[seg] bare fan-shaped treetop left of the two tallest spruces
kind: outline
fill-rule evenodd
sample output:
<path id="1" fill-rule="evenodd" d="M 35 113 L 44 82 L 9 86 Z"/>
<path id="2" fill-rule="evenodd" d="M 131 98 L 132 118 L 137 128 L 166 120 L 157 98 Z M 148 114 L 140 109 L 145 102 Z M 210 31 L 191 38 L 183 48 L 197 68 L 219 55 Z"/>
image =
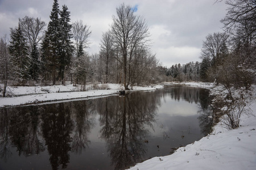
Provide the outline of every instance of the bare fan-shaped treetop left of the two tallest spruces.
<path id="1" fill-rule="evenodd" d="M 30 43 L 30 49 L 32 49 L 34 45 L 38 45 L 39 41 L 42 40 L 46 22 L 41 21 L 40 18 L 25 16 L 23 19 L 19 19 L 19 23 Z"/>

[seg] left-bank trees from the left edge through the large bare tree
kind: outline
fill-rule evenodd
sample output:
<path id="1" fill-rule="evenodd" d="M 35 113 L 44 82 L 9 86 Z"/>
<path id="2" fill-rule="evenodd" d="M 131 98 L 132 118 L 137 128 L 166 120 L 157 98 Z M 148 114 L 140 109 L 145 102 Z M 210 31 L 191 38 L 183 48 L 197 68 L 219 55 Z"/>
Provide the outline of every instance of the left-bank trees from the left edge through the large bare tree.
<path id="1" fill-rule="evenodd" d="M 133 84 L 156 82 L 159 63 L 150 51 L 146 20 L 124 3 L 116 8 L 109 31 L 102 34 L 100 52 L 89 55 L 92 31 L 82 21 L 70 23 L 71 12 L 53 1 L 50 21 L 25 16 L 1 39 L 1 80 L 15 85 L 65 84 L 86 90 L 86 82 Z M 45 29 L 46 28 L 46 29 Z M 2 48 L 3 46 L 3 48 Z M 4 96 L 4 95 L 3 95 Z"/>

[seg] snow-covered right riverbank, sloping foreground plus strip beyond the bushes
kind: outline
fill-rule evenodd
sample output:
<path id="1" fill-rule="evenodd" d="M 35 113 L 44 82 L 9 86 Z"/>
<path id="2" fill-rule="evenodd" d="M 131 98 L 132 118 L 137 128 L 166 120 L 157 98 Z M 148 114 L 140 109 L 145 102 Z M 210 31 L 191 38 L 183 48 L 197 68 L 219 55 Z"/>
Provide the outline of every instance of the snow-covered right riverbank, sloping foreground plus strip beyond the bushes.
<path id="1" fill-rule="evenodd" d="M 223 88 L 213 83 L 173 83 L 209 88 L 217 94 Z M 242 114 L 240 128 L 227 130 L 221 122 L 207 137 L 178 148 L 174 154 L 155 157 L 130 169 L 256 169 L 256 88 Z"/>

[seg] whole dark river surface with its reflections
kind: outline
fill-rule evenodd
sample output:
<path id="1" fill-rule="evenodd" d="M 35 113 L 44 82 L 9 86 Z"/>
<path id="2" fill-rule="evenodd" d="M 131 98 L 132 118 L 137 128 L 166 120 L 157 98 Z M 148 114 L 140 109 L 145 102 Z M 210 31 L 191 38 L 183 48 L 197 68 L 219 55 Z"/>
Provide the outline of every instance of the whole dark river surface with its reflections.
<path id="1" fill-rule="evenodd" d="M 209 92 L 167 86 L 126 96 L 0 109 L 0 169 L 124 169 L 209 133 Z"/>

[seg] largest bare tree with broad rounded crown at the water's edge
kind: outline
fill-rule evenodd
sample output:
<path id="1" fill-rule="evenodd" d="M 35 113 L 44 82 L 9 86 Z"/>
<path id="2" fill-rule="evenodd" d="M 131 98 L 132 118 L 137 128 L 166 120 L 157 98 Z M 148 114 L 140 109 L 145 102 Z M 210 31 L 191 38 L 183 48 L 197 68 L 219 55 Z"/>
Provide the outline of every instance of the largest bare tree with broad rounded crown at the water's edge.
<path id="1" fill-rule="evenodd" d="M 129 90 L 129 78 L 127 78 L 129 61 L 134 57 L 135 48 L 139 45 L 146 45 L 147 37 L 150 35 L 146 20 L 141 16 L 136 16 L 131 6 L 126 6 L 122 3 L 122 5 L 116 8 L 116 11 L 117 16 L 113 16 L 111 33 L 114 45 L 122 56 L 122 60 L 119 62 L 121 62 L 123 67 L 123 85 L 125 89 Z"/>

